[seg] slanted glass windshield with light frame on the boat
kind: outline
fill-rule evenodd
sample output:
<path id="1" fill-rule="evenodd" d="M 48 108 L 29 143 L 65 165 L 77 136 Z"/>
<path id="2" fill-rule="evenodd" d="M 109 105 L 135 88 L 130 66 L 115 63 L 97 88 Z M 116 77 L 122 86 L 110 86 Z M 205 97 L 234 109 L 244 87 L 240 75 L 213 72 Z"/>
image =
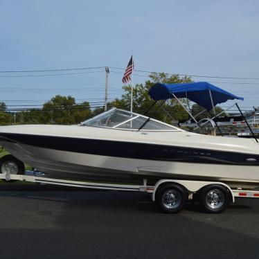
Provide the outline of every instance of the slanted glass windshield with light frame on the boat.
<path id="1" fill-rule="evenodd" d="M 177 127 L 162 123 L 140 114 L 134 114 L 122 109 L 110 109 L 98 116 L 90 118 L 80 124 L 81 126 L 91 127 L 110 127 L 121 130 L 152 130 L 152 131 L 175 131 Z"/>

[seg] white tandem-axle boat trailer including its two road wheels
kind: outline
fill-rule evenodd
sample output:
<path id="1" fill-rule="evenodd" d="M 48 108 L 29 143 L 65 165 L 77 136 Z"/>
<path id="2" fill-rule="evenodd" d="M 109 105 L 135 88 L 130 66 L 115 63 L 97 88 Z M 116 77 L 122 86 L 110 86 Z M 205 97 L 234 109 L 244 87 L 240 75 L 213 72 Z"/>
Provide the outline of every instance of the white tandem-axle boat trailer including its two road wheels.
<path id="1" fill-rule="evenodd" d="M 154 185 L 148 185 L 147 179 L 143 179 L 141 185 L 108 184 L 105 182 L 53 179 L 37 170 L 26 170 L 24 175 L 5 172 L 0 174 L 0 179 L 74 188 L 150 193 L 152 202 L 155 202 L 160 211 L 164 213 L 178 213 L 188 201 L 199 202 L 207 213 L 221 213 L 229 205 L 229 202 L 235 202 L 235 197 L 259 198 L 259 190 L 233 189 L 219 181 L 161 179 Z"/>

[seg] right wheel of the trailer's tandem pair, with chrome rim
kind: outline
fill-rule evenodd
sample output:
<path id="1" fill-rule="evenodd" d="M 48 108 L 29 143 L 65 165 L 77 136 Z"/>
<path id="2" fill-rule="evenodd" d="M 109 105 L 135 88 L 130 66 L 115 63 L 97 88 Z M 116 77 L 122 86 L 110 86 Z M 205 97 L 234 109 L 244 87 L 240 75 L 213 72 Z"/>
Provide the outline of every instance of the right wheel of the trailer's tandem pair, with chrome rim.
<path id="1" fill-rule="evenodd" d="M 220 184 L 205 186 L 199 192 L 199 204 L 207 213 L 221 213 L 229 205 L 229 190 Z"/>

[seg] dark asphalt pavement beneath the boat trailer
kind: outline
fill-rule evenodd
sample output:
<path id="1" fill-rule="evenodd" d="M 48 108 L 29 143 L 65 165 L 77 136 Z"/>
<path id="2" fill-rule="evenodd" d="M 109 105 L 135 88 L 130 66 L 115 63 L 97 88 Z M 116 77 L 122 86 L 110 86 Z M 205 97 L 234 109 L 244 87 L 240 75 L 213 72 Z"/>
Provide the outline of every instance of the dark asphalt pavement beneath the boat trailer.
<path id="1" fill-rule="evenodd" d="M 1 190 L 0 258 L 259 258 L 259 199 L 160 213 L 145 193 Z"/>

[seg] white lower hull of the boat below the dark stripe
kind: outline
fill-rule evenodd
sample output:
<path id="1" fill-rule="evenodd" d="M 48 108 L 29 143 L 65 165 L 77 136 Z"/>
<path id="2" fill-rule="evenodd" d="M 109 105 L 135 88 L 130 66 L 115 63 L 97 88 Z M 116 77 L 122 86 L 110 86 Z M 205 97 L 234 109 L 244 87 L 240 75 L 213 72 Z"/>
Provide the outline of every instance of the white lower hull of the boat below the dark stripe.
<path id="1" fill-rule="evenodd" d="M 39 171 L 60 177 L 69 175 L 82 178 L 96 175 L 108 179 L 127 179 L 130 176 L 145 176 L 259 183 L 258 166 L 128 159 L 37 148 L 18 143 L 2 144 L 17 159 Z"/>

